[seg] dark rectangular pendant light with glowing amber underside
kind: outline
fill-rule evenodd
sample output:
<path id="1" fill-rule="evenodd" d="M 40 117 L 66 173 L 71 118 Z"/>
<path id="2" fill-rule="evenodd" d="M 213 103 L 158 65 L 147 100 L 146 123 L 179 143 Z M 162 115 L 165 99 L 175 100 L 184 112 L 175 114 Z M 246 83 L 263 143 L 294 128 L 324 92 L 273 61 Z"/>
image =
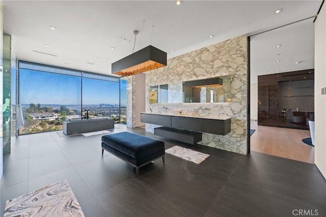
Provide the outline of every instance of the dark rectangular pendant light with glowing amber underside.
<path id="1" fill-rule="evenodd" d="M 130 76 L 167 66 L 167 53 L 151 45 L 112 64 L 112 74 Z"/>

